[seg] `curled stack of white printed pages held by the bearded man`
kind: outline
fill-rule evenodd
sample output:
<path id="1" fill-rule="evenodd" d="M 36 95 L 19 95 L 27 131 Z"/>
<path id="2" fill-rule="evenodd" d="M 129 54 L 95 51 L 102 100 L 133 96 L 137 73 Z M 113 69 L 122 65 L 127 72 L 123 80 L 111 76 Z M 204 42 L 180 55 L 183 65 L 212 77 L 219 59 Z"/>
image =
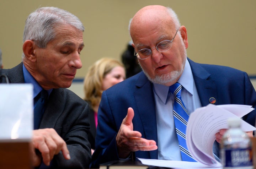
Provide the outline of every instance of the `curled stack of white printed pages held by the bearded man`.
<path id="1" fill-rule="evenodd" d="M 192 156 L 206 165 L 216 166 L 220 163 L 213 156 L 215 133 L 220 129 L 228 129 L 227 119 L 238 116 L 241 118 L 254 110 L 248 105 L 213 105 L 198 108 L 190 114 L 187 125 L 187 146 Z M 243 131 L 253 131 L 256 128 L 247 122 L 241 122 Z"/>

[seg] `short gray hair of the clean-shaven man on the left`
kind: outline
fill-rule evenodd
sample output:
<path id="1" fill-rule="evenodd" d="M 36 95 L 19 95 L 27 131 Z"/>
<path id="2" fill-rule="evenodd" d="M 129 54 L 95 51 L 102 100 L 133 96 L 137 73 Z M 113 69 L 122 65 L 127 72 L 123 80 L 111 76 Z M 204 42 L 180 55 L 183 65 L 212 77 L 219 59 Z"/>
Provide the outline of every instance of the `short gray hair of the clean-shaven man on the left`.
<path id="1" fill-rule="evenodd" d="M 27 17 L 23 43 L 33 40 L 40 48 L 46 48 L 48 42 L 56 36 L 55 28 L 62 25 L 71 25 L 84 32 L 84 26 L 78 17 L 57 7 L 41 7 Z M 22 58 L 24 58 L 24 53 Z"/>

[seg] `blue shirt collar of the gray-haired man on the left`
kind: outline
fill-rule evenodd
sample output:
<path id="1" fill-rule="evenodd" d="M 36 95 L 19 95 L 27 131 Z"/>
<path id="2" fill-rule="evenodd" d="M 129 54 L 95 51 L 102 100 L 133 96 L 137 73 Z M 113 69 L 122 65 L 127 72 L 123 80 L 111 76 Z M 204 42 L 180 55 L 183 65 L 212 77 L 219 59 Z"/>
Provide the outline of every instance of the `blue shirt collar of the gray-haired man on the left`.
<path id="1" fill-rule="evenodd" d="M 25 83 L 32 83 L 34 86 L 33 89 L 33 98 L 37 96 L 38 93 L 40 93 L 42 91 L 42 87 L 40 86 L 40 84 L 34 79 L 34 77 L 30 74 L 30 72 L 28 72 L 28 70 L 26 69 L 26 67 L 24 66 L 24 64 L 22 64 L 22 69 L 23 69 L 23 75 L 24 75 L 24 81 Z M 50 95 L 50 93 L 52 92 L 52 89 L 47 90 L 48 92 L 48 96 Z"/>

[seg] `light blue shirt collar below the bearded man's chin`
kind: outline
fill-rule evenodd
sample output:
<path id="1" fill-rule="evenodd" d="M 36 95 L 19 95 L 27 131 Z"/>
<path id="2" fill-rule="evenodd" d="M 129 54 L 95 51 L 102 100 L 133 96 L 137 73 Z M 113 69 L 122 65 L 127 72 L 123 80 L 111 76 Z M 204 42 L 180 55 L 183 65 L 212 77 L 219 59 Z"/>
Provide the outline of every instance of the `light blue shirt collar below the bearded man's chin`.
<path id="1" fill-rule="evenodd" d="M 187 59 L 186 59 L 186 63 L 184 66 L 183 73 L 182 73 L 181 77 L 179 78 L 178 83 L 180 83 L 182 85 L 182 87 L 185 88 L 189 93 L 191 93 L 192 95 L 194 94 L 194 92 L 193 92 L 193 74 L 192 74 L 191 67 L 190 67 L 190 64 Z M 153 83 L 153 88 L 154 88 L 155 93 L 162 100 L 162 102 L 166 103 L 169 86 L 164 86 L 162 84 Z"/>

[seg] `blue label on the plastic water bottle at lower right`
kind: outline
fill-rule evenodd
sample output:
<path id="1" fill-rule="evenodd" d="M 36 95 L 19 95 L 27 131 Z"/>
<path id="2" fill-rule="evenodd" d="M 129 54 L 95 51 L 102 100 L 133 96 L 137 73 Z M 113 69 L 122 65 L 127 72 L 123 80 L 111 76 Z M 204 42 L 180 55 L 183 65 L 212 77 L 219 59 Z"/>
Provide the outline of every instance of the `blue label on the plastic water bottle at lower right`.
<path id="1" fill-rule="evenodd" d="M 246 167 L 252 164 L 252 149 L 224 149 L 223 167 Z"/>

